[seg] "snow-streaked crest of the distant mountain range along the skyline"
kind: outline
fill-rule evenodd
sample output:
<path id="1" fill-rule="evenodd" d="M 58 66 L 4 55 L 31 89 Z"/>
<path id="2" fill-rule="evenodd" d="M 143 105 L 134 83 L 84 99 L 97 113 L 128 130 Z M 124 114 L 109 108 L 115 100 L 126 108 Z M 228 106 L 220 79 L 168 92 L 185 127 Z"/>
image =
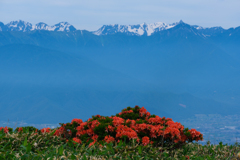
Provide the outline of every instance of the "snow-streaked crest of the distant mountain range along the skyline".
<path id="1" fill-rule="evenodd" d="M 188 25 L 184 23 L 182 20 L 176 23 L 167 24 L 163 22 L 156 22 L 156 23 L 142 23 L 137 25 L 119 25 L 119 24 L 111 24 L 111 25 L 103 25 L 96 31 L 92 31 L 91 33 L 94 35 L 113 35 L 117 33 L 123 33 L 130 36 L 151 36 L 154 33 L 161 32 L 164 30 L 169 30 L 179 25 Z M 214 34 L 222 33 L 226 30 L 235 30 L 235 28 L 230 29 L 223 29 L 222 27 L 210 27 L 204 28 L 198 25 L 189 25 L 191 29 L 196 30 L 196 34 L 199 34 L 203 37 L 211 36 Z M 8 24 L 3 24 L 0 22 L 0 31 L 20 31 L 20 32 L 29 32 L 35 30 L 46 30 L 46 31 L 63 31 L 63 32 L 71 32 L 76 31 L 73 25 L 69 24 L 68 22 L 60 22 L 53 26 L 49 26 L 46 23 L 40 22 L 36 25 L 32 25 L 29 22 L 25 22 L 22 20 L 18 21 L 11 21 Z"/>

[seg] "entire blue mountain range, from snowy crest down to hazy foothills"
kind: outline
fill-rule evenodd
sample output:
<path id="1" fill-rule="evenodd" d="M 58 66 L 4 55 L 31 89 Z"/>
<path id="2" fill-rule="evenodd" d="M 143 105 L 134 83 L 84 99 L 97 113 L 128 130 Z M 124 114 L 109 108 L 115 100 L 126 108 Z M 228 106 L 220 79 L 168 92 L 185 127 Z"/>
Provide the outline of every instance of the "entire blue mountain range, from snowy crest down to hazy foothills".
<path id="1" fill-rule="evenodd" d="M 240 27 L 17 22 L 0 23 L 0 121 L 86 120 L 134 105 L 179 121 L 240 113 Z"/>

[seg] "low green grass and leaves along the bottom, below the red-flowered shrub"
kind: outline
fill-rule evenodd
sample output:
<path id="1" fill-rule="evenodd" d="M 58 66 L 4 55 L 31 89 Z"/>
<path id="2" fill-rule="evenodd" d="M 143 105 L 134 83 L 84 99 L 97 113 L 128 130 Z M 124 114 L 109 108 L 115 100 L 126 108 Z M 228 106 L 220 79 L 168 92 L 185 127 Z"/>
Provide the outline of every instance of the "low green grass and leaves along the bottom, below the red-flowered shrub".
<path id="1" fill-rule="evenodd" d="M 31 127 L 27 127 L 28 130 Z M 33 129 L 33 128 L 32 128 Z M 55 129 L 54 129 L 55 130 Z M 54 131 L 53 130 L 53 131 Z M 189 143 L 179 149 L 168 151 L 166 148 L 154 147 L 152 145 L 141 146 L 136 141 L 125 143 L 101 143 L 88 147 L 86 143 L 76 144 L 72 140 L 66 143 L 61 137 L 53 136 L 52 133 L 34 135 L 34 132 L 10 134 L 0 133 L 0 159 L 209 159 L 225 160 L 236 159 L 240 151 L 239 145 L 228 146 L 219 143 L 219 145 L 206 146 L 197 143 Z M 12 136 L 11 136 L 12 135 Z M 82 135 L 87 138 L 87 135 Z M 13 138 L 14 137 L 14 138 Z M 124 137 L 123 137 L 124 139 Z M 90 140 L 91 141 L 91 140 Z"/>

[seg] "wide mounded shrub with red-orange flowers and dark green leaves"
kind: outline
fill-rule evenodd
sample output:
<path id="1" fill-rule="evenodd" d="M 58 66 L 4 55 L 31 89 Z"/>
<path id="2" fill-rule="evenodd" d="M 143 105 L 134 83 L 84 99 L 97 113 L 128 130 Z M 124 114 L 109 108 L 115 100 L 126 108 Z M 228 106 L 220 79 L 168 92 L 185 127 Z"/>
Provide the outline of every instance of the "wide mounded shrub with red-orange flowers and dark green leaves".
<path id="1" fill-rule="evenodd" d="M 149 143 L 155 146 L 180 146 L 187 142 L 199 141 L 203 135 L 195 129 L 184 129 L 171 118 L 160 118 L 151 115 L 139 106 L 128 107 L 111 117 L 93 116 L 86 122 L 73 119 L 71 123 L 61 124 L 54 133 L 77 143 L 87 143 L 89 146 L 101 142 L 131 142 L 135 140 L 142 145 Z"/>

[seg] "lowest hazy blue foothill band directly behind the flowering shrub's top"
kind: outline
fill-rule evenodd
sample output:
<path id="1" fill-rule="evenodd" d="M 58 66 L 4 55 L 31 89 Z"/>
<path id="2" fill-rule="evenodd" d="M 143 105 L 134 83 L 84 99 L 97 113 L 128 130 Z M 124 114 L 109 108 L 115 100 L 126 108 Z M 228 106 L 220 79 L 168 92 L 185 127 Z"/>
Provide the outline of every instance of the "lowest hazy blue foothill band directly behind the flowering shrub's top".
<path id="1" fill-rule="evenodd" d="M 161 117 L 181 121 L 195 114 L 237 114 L 236 106 L 200 99 L 190 94 L 161 91 L 106 91 L 87 87 L 42 85 L 1 86 L 1 121 L 28 123 L 87 120 L 92 115 L 115 115 L 127 106 L 145 106 Z"/>

